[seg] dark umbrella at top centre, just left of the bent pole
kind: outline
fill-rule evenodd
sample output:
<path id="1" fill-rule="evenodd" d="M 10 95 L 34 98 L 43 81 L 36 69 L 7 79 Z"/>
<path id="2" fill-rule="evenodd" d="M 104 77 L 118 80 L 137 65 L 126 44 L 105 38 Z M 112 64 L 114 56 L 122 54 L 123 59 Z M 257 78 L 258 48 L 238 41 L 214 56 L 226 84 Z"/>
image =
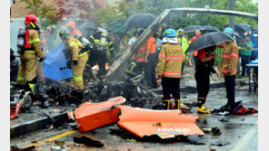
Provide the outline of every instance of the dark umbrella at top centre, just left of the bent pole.
<path id="1" fill-rule="evenodd" d="M 148 13 L 138 13 L 132 14 L 125 20 L 125 25 L 127 27 L 136 27 L 136 28 L 146 28 L 152 24 L 156 16 L 154 14 Z"/>

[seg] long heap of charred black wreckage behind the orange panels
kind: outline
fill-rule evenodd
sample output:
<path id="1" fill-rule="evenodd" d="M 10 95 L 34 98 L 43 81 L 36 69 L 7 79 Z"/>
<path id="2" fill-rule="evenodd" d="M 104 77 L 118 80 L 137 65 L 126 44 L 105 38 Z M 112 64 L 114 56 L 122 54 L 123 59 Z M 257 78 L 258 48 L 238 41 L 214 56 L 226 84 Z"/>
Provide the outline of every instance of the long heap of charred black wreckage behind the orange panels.
<path id="1" fill-rule="evenodd" d="M 136 83 L 135 83 L 136 82 Z M 144 88 L 143 84 L 137 83 L 137 80 L 126 81 L 89 81 L 85 90 L 77 91 L 75 87 L 68 85 L 68 80 L 52 80 L 45 78 L 45 84 L 35 83 L 35 92 L 25 86 L 20 86 L 11 82 L 11 100 L 15 95 L 19 98 L 25 98 L 25 93 L 31 92 L 31 102 L 27 105 L 40 106 L 42 109 L 56 106 L 74 106 L 78 107 L 83 102 L 103 102 L 107 99 L 117 96 L 123 96 L 126 99 L 125 104 L 131 107 L 152 109 L 154 103 L 158 103 L 159 96 Z M 25 110 L 25 109 L 24 109 Z"/>

